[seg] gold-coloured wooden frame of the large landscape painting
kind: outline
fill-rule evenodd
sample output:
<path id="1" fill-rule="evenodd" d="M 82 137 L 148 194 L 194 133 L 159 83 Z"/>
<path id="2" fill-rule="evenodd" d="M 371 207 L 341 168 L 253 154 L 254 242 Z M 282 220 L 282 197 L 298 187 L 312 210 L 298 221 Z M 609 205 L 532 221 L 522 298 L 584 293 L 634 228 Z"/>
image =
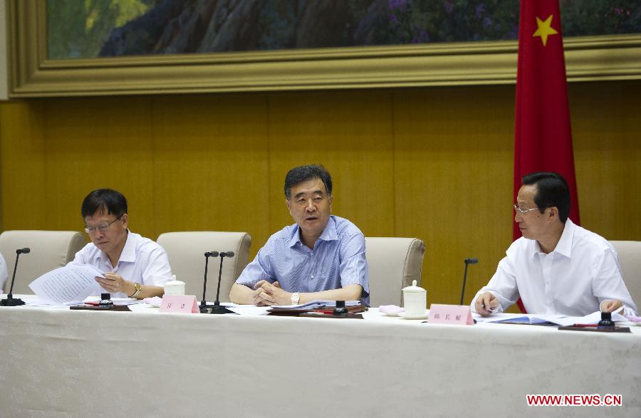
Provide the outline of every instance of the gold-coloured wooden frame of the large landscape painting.
<path id="1" fill-rule="evenodd" d="M 8 0 L 9 97 L 516 82 L 516 41 L 49 60 L 46 1 Z M 566 38 L 568 80 L 641 78 L 641 34 Z"/>

